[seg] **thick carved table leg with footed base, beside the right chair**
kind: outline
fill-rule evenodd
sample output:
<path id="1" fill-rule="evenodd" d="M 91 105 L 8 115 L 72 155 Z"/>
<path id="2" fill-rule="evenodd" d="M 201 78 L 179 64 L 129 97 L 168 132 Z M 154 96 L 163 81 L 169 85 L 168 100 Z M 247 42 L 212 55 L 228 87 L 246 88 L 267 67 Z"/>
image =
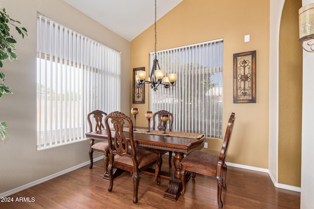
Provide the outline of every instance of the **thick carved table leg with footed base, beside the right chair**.
<path id="1" fill-rule="evenodd" d="M 181 161 L 183 159 L 182 152 L 175 152 L 175 157 L 173 158 L 173 163 L 176 167 L 175 176 L 172 178 L 168 184 L 168 188 L 165 191 L 163 197 L 177 201 L 178 197 L 180 196 L 180 191 L 182 189 L 181 183 L 181 170 L 182 165 Z"/>

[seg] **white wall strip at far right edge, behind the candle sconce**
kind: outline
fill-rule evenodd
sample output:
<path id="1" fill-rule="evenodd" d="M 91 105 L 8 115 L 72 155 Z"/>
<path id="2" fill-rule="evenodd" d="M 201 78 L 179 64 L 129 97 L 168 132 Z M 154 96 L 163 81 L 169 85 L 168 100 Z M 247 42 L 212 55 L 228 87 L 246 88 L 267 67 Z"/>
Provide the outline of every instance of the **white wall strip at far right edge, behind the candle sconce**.
<path id="1" fill-rule="evenodd" d="M 314 0 L 302 0 L 302 5 Z M 314 52 L 303 51 L 301 209 L 314 206 Z"/>

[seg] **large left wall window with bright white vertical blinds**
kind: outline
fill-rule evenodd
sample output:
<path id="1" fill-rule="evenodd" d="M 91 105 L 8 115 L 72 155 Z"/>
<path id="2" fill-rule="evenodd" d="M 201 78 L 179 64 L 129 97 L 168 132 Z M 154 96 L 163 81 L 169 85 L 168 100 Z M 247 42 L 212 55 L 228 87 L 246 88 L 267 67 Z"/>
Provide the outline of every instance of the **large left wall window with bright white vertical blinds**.
<path id="1" fill-rule="evenodd" d="M 121 53 L 37 18 L 37 148 L 85 138 L 86 116 L 120 109 Z"/>

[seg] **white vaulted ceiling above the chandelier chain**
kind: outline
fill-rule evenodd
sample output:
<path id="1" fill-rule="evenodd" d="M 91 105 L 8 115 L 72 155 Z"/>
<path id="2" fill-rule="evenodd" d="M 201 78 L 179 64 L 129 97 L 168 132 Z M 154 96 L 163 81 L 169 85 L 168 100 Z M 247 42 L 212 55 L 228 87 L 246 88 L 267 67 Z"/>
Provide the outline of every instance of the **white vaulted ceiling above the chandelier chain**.
<path id="1" fill-rule="evenodd" d="M 154 0 L 63 0 L 128 41 L 154 24 Z M 157 20 L 183 0 L 157 0 Z"/>

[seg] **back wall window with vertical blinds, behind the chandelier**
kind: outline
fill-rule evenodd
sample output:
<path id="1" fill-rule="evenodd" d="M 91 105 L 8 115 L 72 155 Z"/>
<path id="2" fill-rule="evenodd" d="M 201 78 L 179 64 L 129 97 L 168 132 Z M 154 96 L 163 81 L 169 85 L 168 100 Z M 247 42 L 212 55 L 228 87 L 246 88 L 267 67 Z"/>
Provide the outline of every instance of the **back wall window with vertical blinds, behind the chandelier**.
<path id="1" fill-rule="evenodd" d="M 177 73 L 177 85 L 151 91 L 150 109 L 173 113 L 173 129 L 222 138 L 223 40 L 157 51 L 157 58 L 165 73 Z"/>

